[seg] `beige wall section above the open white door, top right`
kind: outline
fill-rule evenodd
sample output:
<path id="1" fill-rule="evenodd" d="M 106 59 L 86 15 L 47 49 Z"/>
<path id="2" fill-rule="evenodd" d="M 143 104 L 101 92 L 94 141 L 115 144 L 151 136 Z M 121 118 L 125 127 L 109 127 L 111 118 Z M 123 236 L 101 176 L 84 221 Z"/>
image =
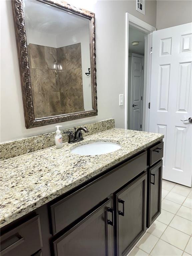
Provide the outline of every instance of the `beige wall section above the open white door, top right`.
<path id="1" fill-rule="evenodd" d="M 192 22 L 191 0 L 157 0 L 157 29 Z"/>

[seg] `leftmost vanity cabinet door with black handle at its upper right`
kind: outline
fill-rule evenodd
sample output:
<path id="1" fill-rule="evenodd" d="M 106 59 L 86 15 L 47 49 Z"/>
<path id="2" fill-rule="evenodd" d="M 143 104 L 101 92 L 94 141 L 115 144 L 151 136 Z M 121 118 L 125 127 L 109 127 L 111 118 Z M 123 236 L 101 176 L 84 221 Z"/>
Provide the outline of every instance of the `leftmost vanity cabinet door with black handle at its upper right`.
<path id="1" fill-rule="evenodd" d="M 111 256 L 114 211 L 108 200 L 54 244 L 56 256 Z"/>

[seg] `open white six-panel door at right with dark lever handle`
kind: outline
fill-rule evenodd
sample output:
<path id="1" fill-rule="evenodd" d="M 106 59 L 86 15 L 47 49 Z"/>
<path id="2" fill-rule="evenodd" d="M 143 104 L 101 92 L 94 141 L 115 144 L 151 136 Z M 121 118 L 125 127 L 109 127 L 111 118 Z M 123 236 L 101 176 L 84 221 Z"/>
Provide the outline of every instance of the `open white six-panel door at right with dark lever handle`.
<path id="1" fill-rule="evenodd" d="M 153 32 L 150 132 L 163 133 L 163 179 L 191 186 L 192 23 Z"/>

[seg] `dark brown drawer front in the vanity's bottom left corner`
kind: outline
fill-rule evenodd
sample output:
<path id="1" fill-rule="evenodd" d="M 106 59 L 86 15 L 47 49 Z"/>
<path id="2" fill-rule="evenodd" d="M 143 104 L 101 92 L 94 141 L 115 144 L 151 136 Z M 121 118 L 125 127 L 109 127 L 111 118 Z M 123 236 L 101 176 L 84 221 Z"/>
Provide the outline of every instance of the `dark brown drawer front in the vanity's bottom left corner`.
<path id="1" fill-rule="evenodd" d="M 41 247 L 39 215 L 1 236 L 1 256 L 31 256 Z"/>

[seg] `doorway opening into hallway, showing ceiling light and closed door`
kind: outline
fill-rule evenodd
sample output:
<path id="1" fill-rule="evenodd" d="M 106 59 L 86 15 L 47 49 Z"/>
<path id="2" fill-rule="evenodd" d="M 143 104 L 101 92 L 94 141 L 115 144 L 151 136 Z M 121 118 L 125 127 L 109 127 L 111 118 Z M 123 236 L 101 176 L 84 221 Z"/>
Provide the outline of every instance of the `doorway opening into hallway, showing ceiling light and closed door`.
<path id="1" fill-rule="evenodd" d="M 128 123 L 127 128 L 142 131 L 145 33 L 129 25 Z"/>

